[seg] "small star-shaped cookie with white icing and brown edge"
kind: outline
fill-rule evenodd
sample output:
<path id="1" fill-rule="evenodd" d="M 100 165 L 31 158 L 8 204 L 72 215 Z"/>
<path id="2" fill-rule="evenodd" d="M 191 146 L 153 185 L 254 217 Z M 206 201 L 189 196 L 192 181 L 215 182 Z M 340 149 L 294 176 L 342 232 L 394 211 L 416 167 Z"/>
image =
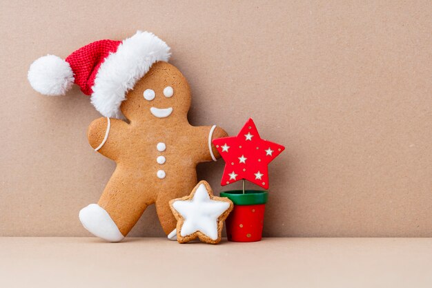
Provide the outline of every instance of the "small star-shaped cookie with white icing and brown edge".
<path id="1" fill-rule="evenodd" d="M 186 243 L 199 238 L 217 244 L 222 238 L 224 220 L 233 210 L 228 198 L 213 195 L 210 185 L 201 181 L 190 195 L 170 200 L 170 208 L 177 219 L 177 241 Z"/>

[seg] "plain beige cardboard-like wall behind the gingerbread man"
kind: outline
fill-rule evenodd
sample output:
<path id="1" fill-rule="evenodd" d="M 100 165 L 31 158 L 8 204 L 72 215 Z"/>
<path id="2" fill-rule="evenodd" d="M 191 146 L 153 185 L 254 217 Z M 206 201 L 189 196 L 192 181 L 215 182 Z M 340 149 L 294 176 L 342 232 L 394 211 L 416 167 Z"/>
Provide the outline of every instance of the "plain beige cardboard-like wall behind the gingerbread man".
<path id="1" fill-rule="evenodd" d="M 114 169 L 86 140 L 99 115 L 76 87 L 38 95 L 26 73 L 137 29 L 171 46 L 190 122 L 234 135 L 253 117 L 286 146 L 266 236 L 432 236 L 430 1 L 1 2 L 0 236 L 89 235 L 78 211 Z M 219 192 L 223 167 L 199 178 Z M 131 235 L 162 235 L 153 208 Z"/>

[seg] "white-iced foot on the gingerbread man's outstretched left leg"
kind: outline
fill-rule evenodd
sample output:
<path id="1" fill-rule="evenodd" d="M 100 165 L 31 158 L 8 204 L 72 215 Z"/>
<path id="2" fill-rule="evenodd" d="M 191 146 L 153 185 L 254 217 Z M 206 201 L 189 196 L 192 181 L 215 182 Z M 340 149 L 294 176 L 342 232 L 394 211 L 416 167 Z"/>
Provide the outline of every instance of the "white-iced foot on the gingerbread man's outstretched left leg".
<path id="1" fill-rule="evenodd" d="M 90 233 L 109 242 L 124 239 L 110 215 L 98 204 L 90 204 L 79 211 L 79 220 Z"/>

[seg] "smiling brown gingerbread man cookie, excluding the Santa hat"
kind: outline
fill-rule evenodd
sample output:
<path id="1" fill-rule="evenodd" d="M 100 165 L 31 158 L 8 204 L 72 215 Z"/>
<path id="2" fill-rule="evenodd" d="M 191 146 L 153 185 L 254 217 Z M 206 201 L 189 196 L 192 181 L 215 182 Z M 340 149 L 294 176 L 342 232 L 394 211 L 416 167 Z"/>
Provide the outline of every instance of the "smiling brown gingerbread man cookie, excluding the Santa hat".
<path id="1" fill-rule="evenodd" d="M 190 90 L 184 76 L 174 66 L 157 62 L 121 104 L 129 124 L 109 118 L 90 124 L 88 142 L 117 162 L 117 168 L 98 206 L 92 204 L 80 213 L 87 229 L 92 222 L 99 222 L 103 209 L 121 236 L 126 236 L 153 203 L 165 233 L 175 229 L 176 220 L 168 202 L 193 189 L 197 164 L 219 157 L 210 141 L 226 136 L 216 126 L 191 126 L 187 119 L 189 106 Z M 97 235 L 97 231 L 90 232 Z"/>

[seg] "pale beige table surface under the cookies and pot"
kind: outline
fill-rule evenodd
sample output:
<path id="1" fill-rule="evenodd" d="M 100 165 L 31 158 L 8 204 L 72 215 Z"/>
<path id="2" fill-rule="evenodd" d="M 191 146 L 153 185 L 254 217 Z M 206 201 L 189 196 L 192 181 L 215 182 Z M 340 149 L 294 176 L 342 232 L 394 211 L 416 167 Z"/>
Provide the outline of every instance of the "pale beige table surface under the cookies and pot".
<path id="1" fill-rule="evenodd" d="M 432 287 L 431 238 L 0 238 L 0 287 Z"/>

